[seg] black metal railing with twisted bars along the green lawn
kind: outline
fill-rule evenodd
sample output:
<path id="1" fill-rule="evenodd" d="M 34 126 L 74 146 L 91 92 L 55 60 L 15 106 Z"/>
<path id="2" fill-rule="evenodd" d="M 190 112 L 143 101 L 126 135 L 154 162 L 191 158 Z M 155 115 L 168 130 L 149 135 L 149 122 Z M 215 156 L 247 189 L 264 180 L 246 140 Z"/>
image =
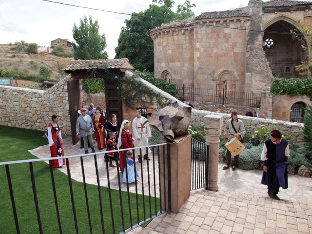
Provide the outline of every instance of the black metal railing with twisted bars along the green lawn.
<path id="1" fill-rule="evenodd" d="M 143 160 L 142 163 L 138 163 L 138 161 L 136 160 L 138 159 L 138 157 L 135 156 L 134 150 L 140 149 L 141 155 L 145 155 L 146 151 L 146 154 L 148 155 L 146 147 L 97 152 L 86 155 L 84 154 L 65 157 L 49 157 L 31 160 L 1 162 L 0 169 L 5 167 L 6 179 L 8 182 L 8 191 L 5 191 L 6 188 L 1 188 L 1 192 L 2 194 L 10 194 L 12 203 L 12 216 L 14 216 L 14 221 L 13 217 L 11 216 L 12 223 L 9 225 L 14 228 L 13 222 L 15 223 L 14 229 L 16 229 L 17 234 L 29 232 L 29 227 L 27 227 L 29 222 L 28 213 L 32 211 L 22 211 L 22 208 L 18 204 L 19 201 L 18 203 L 16 202 L 21 198 L 17 198 L 14 194 L 14 191 L 19 189 L 16 186 L 16 184 L 18 184 L 18 181 L 16 181 L 15 175 L 18 173 L 18 170 L 20 170 L 20 168 L 27 167 L 28 165 L 30 173 L 29 182 L 31 183 L 32 194 L 31 192 L 28 195 L 25 193 L 22 199 L 25 199 L 28 202 L 31 202 L 31 200 L 34 201 L 34 209 L 36 211 L 37 224 L 40 234 L 43 234 L 44 232 L 52 233 L 49 227 L 47 227 L 48 225 L 45 223 L 45 221 L 47 221 L 47 216 L 49 217 L 49 219 L 55 220 L 55 226 L 58 225 L 58 231 L 56 231 L 57 228 L 55 227 L 55 231 L 53 233 L 59 232 L 60 234 L 78 234 L 80 231 L 80 233 L 90 234 L 115 234 L 131 231 L 137 226 L 171 209 L 171 204 L 169 202 L 171 201 L 170 170 L 165 169 L 170 168 L 170 145 L 168 144 L 168 146 L 166 147 L 166 152 L 168 154 L 166 161 L 165 145 L 167 144 L 163 143 L 149 146 L 152 151 L 152 153 L 149 155 L 151 160 Z M 162 148 L 162 150 L 160 150 L 160 148 Z M 135 183 L 132 184 L 128 183 L 129 180 L 127 164 L 124 170 L 124 173 L 126 173 L 127 183 L 122 182 L 122 174 L 119 171 L 118 160 L 116 160 L 116 168 L 112 170 L 109 170 L 107 162 L 108 160 L 105 160 L 106 162 L 104 162 L 100 168 L 98 167 L 98 160 L 103 159 L 104 153 L 120 152 L 127 150 L 133 150 L 134 161 L 137 161 L 136 163 L 134 163 L 135 172 L 137 171 L 140 175 L 139 180 L 137 180 L 137 176 L 135 176 Z M 160 155 L 160 151 L 163 152 L 162 155 Z M 66 160 L 66 172 L 69 187 L 69 191 L 66 193 L 66 195 L 63 195 L 62 197 L 60 197 L 58 193 L 60 191 L 64 193 L 64 191 L 68 189 L 68 187 L 64 186 L 66 183 L 59 184 L 55 177 L 57 176 L 59 178 L 59 176 L 64 175 L 62 173 L 59 173 L 59 170 L 52 168 L 52 160 L 61 158 L 65 158 Z M 93 161 L 94 166 L 84 166 L 84 162 L 86 162 L 87 160 L 89 160 L 90 163 L 92 163 Z M 42 181 L 40 181 L 40 173 L 42 172 L 38 172 L 38 168 L 36 169 L 36 165 L 40 161 L 49 162 L 50 177 L 52 182 L 51 185 L 49 185 L 49 181 L 44 181 L 43 183 Z M 160 163 L 167 164 L 168 167 L 166 167 L 165 165 L 160 165 Z M 20 165 L 18 167 L 19 169 L 17 169 L 17 165 Z M 104 168 L 106 169 L 106 175 L 103 172 Z M 74 169 L 76 171 L 77 169 L 81 169 L 80 176 L 82 176 L 83 189 L 81 184 L 80 189 L 78 189 L 78 182 L 75 181 L 71 176 L 71 171 L 73 171 Z M 86 182 L 86 180 L 88 180 L 88 176 L 86 175 L 90 175 L 91 169 L 93 171 L 92 173 L 95 173 L 96 185 L 90 185 L 90 182 Z M 46 172 L 47 170 L 45 170 L 45 173 Z M 163 180 L 160 179 L 161 173 L 167 174 L 167 176 L 164 176 Z M 5 173 L 3 174 L 5 175 Z M 12 174 L 14 175 L 13 179 L 11 176 Z M 75 179 L 77 180 L 77 178 Z M 103 184 L 107 184 L 107 187 L 103 187 Z M 165 188 L 165 191 L 161 191 L 161 188 Z M 40 202 L 41 205 L 43 203 L 42 195 L 40 195 L 40 193 L 42 193 L 42 190 L 48 190 L 50 197 L 54 197 L 54 199 L 51 199 L 49 201 L 51 203 L 51 209 L 40 206 Z M 64 208 L 60 205 L 60 201 L 62 202 L 62 200 L 66 197 L 68 197 L 68 201 L 70 197 L 70 209 L 69 207 Z M 45 197 L 45 199 L 48 198 Z M 167 204 L 166 200 L 168 201 Z M 79 207 L 79 204 L 81 207 Z M 6 213 L 8 212 L 10 211 L 6 211 Z M 42 216 L 44 216 L 44 218 L 42 218 Z M 20 220 L 22 220 L 23 222 L 22 228 L 20 225 Z M 9 221 L 10 220 L 7 220 L 7 222 Z M 34 223 L 33 225 L 36 226 L 36 223 Z"/>

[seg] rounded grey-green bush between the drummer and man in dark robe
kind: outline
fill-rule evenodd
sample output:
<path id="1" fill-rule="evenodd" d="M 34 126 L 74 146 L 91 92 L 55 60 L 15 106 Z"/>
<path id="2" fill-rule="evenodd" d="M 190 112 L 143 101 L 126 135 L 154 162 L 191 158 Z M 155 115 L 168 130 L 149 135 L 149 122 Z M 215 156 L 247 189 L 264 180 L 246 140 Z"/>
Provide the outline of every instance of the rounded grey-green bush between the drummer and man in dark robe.
<path id="1" fill-rule="evenodd" d="M 242 170 L 258 168 L 263 145 L 253 146 L 239 154 L 237 166 Z M 234 157 L 232 157 L 233 160 Z"/>

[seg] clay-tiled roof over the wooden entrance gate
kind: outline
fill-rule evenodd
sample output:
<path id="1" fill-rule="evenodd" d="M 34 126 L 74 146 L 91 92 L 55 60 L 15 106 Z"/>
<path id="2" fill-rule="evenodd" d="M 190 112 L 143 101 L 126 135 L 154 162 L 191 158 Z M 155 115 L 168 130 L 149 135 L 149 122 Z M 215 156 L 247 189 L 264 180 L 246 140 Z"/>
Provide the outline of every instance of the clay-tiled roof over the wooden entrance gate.
<path id="1" fill-rule="evenodd" d="M 71 64 L 64 68 L 69 73 L 75 70 L 90 70 L 100 68 L 100 64 L 108 64 L 110 69 L 134 69 L 128 59 L 98 59 L 98 60 L 72 60 Z"/>

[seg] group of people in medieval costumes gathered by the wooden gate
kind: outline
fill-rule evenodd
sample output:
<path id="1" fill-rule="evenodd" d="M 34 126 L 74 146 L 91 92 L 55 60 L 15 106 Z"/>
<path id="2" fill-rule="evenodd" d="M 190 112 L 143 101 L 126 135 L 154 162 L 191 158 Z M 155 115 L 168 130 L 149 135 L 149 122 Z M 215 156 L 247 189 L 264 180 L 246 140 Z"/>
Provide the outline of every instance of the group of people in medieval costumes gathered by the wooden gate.
<path id="1" fill-rule="evenodd" d="M 89 153 L 89 147 L 92 153 L 96 153 L 93 140 L 93 135 L 95 135 L 98 150 L 106 149 L 108 151 L 104 156 L 104 160 L 109 161 L 109 166 L 115 167 L 113 160 L 117 163 L 119 161 L 118 166 L 120 172 L 123 174 L 123 181 L 128 181 L 129 183 L 135 182 L 135 176 L 138 179 L 138 174 L 134 170 L 133 152 L 131 150 L 110 151 L 143 147 L 141 149 L 135 149 L 135 155 L 138 156 L 138 161 L 142 163 L 142 158 L 150 160 L 148 154 L 151 153 L 151 150 L 148 147 L 148 140 L 151 139 L 152 134 L 148 120 L 142 116 L 142 110 L 136 110 L 136 117 L 132 122 L 132 132 L 130 131 L 131 121 L 129 120 L 123 120 L 120 129 L 118 129 L 117 116 L 115 114 L 109 117 L 106 124 L 106 116 L 100 106 L 94 108 L 94 105 L 90 104 L 89 108 L 86 108 L 85 101 L 83 101 L 78 114 L 76 132 L 78 139 L 80 139 L 80 148 L 84 148 L 84 153 Z M 52 116 L 52 122 L 48 125 L 48 139 L 51 156 L 64 156 L 59 117 L 57 115 Z M 64 159 L 52 160 L 52 167 L 54 168 L 60 168 L 64 164 Z M 125 167 L 127 167 L 127 175 L 124 173 Z"/>

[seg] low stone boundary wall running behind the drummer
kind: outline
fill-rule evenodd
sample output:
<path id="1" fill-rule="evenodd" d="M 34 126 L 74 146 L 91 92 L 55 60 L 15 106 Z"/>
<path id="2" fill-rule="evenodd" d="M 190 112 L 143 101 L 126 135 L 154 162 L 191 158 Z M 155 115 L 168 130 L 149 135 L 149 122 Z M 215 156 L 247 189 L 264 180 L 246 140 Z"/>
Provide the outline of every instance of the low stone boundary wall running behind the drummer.
<path id="1" fill-rule="evenodd" d="M 223 117 L 222 126 L 224 126 L 225 121 L 230 119 L 230 114 L 223 114 L 223 113 L 215 113 L 210 111 L 202 111 L 202 110 L 195 110 L 192 109 L 192 123 L 204 123 L 204 117 L 206 115 L 219 115 Z M 272 126 L 278 125 L 282 129 L 282 134 L 285 136 L 291 136 L 292 140 L 298 146 L 303 146 L 303 123 L 297 122 L 288 122 L 276 119 L 266 119 L 266 118 L 255 118 L 255 117 L 247 117 L 247 116 L 238 116 L 244 123 L 244 126 L 249 129 L 251 135 L 253 135 L 254 130 L 259 129 L 261 125 Z"/>

